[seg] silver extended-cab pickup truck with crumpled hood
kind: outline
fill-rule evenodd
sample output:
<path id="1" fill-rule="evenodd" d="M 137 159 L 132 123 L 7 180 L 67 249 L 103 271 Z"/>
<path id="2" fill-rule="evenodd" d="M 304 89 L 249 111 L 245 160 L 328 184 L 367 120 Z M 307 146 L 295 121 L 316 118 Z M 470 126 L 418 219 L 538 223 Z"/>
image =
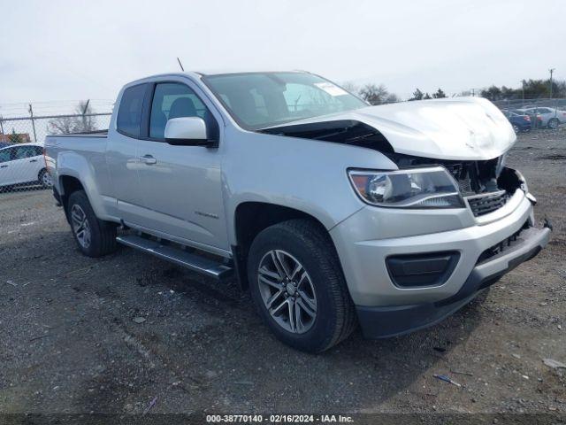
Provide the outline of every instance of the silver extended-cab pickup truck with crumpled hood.
<path id="1" fill-rule="evenodd" d="M 370 106 L 312 73 L 168 73 L 127 84 L 108 132 L 52 135 L 80 251 L 117 243 L 235 277 L 283 342 L 322 352 L 359 323 L 430 326 L 546 244 L 481 98 Z"/>

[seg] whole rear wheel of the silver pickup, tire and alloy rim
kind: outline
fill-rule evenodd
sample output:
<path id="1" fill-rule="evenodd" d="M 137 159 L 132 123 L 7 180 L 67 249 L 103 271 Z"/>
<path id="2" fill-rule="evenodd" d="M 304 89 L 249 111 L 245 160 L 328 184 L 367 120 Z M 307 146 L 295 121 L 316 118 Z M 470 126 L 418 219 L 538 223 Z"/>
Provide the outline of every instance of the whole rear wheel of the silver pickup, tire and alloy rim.
<path id="1" fill-rule="evenodd" d="M 116 225 L 98 220 L 83 190 L 71 194 L 67 216 L 80 251 L 88 257 L 102 257 L 116 251 Z"/>

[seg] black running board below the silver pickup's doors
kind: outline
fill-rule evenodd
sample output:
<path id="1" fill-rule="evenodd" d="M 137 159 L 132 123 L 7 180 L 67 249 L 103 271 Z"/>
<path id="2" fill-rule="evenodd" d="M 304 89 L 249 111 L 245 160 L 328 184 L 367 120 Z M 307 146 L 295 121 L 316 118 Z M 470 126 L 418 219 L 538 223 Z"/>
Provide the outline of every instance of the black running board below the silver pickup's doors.
<path id="1" fill-rule="evenodd" d="M 195 272 L 206 274 L 218 281 L 223 281 L 233 274 L 233 268 L 221 262 L 207 259 L 181 248 L 166 245 L 142 236 L 117 236 L 116 242 L 155 255 L 160 259 L 171 261 L 179 266 L 187 267 Z"/>

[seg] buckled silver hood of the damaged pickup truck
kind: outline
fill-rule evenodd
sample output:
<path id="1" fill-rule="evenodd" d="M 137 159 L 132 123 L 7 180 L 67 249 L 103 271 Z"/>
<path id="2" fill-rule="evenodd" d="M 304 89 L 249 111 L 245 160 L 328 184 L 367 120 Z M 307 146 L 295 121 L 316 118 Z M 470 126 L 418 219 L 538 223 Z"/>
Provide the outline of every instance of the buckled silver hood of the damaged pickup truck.
<path id="1" fill-rule="evenodd" d="M 335 121 L 361 122 L 378 130 L 397 153 L 425 158 L 485 160 L 501 156 L 515 143 L 509 120 L 490 101 L 455 97 L 368 106 L 287 123 L 293 128 Z M 277 128 L 268 128 L 274 132 Z M 283 133 L 285 134 L 285 133 Z M 378 149 L 379 150 L 379 149 Z"/>

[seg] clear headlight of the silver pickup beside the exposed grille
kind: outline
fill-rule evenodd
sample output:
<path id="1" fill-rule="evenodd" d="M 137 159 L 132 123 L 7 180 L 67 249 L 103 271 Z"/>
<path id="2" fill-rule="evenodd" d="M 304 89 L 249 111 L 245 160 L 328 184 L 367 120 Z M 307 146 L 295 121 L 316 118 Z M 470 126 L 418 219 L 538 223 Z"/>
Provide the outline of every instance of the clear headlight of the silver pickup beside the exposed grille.
<path id="1" fill-rule="evenodd" d="M 371 205 L 395 208 L 464 208 L 458 184 L 446 168 L 399 171 L 349 170 L 357 194 Z"/>

